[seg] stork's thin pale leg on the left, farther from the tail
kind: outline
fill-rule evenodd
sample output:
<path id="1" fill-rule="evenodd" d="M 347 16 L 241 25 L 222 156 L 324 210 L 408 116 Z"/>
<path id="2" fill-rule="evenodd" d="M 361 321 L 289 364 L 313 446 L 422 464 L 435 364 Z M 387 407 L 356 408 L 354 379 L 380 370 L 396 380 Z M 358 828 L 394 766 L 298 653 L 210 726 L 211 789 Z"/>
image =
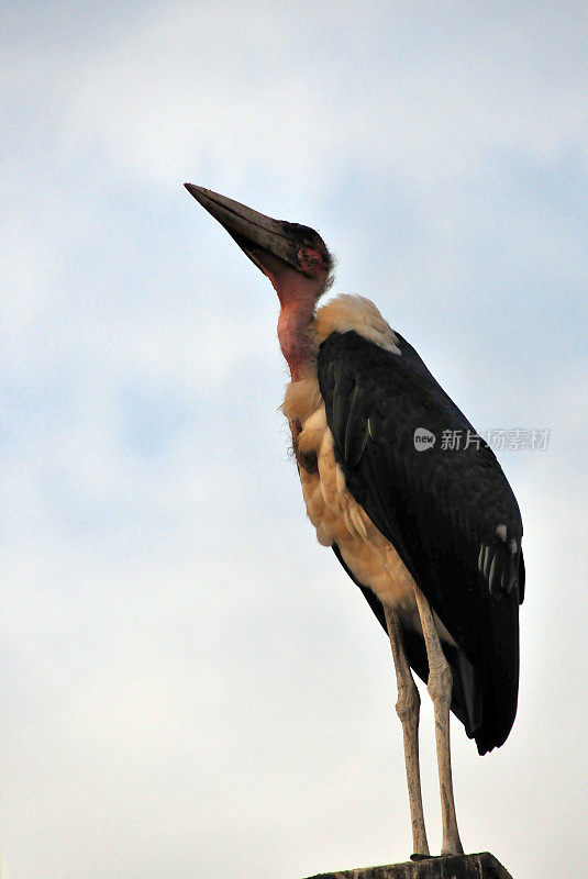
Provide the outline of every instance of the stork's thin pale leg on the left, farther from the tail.
<path id="1" fill-rule="evenodd" d="M 414 854 L 429 855 L 421 795 L 421 772 L 419 768 L 419 710 L 421 698 L 404 653 L 398 614 L 386 605 L 384 605 L 384 611 L 386 614 L 388 634 L 390 636 L 390 646 L 392 648 L 396 680 L 398 685 L 396 712 L 402 722 L 404 738 L 404 764 L 407 767 L 407 782 L 409 789 L 412 845 Z"/>

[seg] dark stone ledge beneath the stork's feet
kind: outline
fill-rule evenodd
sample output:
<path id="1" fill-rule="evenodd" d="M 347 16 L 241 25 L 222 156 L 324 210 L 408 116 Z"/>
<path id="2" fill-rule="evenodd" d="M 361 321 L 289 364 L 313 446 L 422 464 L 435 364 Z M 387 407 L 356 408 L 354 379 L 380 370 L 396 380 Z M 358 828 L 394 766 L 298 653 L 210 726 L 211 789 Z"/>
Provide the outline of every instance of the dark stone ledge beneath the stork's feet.
<path id="1" fill-rule="evenodd" d="M 512 879 L 489 852 L 476 855 L 446 855 L 389 864 L 385 867 L 359 867 L 355 870 L 321 872 L 309 879 Z"/>

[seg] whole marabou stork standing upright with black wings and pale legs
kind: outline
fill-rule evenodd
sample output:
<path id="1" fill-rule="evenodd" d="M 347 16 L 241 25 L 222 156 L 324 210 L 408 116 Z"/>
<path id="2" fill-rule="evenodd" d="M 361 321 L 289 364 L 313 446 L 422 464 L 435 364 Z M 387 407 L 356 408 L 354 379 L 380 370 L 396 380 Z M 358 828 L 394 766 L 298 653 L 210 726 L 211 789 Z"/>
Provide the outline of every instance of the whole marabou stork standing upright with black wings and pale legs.
<path id="1" fill-rule="evenodd" d="M 333 259 L 314 230 L 186 188 L 278 294 L 291 375 L 282 409 L 307 512 L 390 638 L 413 857 L 429 856 L 429 845 L 411 668 L 434 705 L 442 854 L 462 853 L 450 709 L 480 754 L 503 744 L 517 713 L 524 564 L 514 494 L 492 450 L 369 300 L 339 296 L 317 309 Z M 467 442 L 444 445 L 445 431 Z"/>

